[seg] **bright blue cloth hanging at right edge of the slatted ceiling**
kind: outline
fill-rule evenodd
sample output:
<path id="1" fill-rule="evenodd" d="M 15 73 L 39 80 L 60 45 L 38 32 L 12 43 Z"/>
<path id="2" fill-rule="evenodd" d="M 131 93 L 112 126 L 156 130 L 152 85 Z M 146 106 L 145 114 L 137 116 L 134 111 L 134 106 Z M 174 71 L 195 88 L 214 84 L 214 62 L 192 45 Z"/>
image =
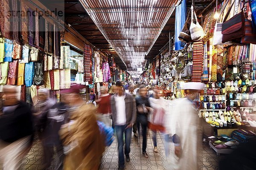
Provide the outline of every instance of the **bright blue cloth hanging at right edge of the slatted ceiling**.
<path id="1" fill-rule="evenodd" d="M 186 0 L 182 0 L 181 4 L 176 7 L 175 11 L 175 50 L 183 49 L 184 42 L 179 40 L 180 31 L 186 22 Z"/>

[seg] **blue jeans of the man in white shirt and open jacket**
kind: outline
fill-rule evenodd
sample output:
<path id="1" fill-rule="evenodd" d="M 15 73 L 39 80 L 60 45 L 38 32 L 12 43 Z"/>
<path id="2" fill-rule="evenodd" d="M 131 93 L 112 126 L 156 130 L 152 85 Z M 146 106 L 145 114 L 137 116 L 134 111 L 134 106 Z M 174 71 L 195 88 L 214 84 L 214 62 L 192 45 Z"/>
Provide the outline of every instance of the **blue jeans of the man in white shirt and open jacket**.
<path id="1" fill-rule="evenodd" d="M 132 128 L 129 127 L 125 129 L 127 125 L 115 125 L 116 128 L 116 137 L 118 142 L 118 155 L 119 160 L 118 164 L 119 167 L 125 167 L 125 157 L 124 157 L 124 141 L 123 141 L 123 134 L 125 133 L 125 156 L 129 156 L 130 153 L 130 144 L 131 144 L 131 130 Z"/>

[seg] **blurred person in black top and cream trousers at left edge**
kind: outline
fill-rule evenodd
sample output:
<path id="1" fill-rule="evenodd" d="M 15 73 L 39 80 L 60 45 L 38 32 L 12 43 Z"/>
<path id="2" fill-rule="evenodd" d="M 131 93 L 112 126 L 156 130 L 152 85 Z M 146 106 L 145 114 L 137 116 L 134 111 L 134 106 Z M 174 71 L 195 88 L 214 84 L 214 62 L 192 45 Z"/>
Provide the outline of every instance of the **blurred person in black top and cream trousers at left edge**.
<path id="1" fill-rule="evenodd" d="M 22 159 L 33 140 L 30 109 L 17 99 L 17 86 L 4 86 L 3 113 L 0 113 L 0 159 L 3 170 L 20 170 Z"/>

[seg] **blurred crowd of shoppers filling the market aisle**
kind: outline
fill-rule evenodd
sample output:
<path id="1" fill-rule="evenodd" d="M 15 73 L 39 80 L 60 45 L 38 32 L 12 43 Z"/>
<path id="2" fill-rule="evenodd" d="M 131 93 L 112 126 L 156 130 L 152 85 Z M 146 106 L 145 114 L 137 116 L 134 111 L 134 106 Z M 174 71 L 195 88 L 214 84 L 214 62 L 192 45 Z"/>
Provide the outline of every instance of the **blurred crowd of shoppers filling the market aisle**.
<path id="1" fill-rule="evenodd" d="M 175 107 L 161 97 L 157 85 L 148 88 L 145 84 L 117 81 L 109 91 L 108 87 L 102 86 L 98 97 L 90 91 L 90 102 L 81 98 L 82 88 L 82 85 L 71 85 L 70 89 L 62 90 L 60 102 L 50 98 L 49 90 L 39 89 L 38 103 L 31 110 L 19 101 L 16 86 L 4 86 L 3 103 L 0 103 L 3 105 L 0 112 L 0 160 L 4 170 L 20 169 L 21 161 L 36 136 L 44 149 L 45 170 L 49 168 L 55 150 L 57 170 L 98 170 L 108 140 L 99 122 L 105 125 L 104 128 L 115 129 L 119 170 L 124 170 L 125 161 L 130 161 L 132 131 L 135 139 L 142 137 L 142 153 L 148 158 L 148 129 L 152 131 L 156 153 L 157 131 L 163 134 L 166 157 L 172 164 L 170 169 L 197 170 L 197 146 L 194 145 L 197 124 L 191 101 L 201 85 L 187 84 L 186 89 L 190 89 L 188 96 L 175 100 Z M 180 121 L 177 113 L 178 117 L 186 117 L 186 122 Z M 170 143 L 175 144 L 173 155 L 169 154 Z"/>

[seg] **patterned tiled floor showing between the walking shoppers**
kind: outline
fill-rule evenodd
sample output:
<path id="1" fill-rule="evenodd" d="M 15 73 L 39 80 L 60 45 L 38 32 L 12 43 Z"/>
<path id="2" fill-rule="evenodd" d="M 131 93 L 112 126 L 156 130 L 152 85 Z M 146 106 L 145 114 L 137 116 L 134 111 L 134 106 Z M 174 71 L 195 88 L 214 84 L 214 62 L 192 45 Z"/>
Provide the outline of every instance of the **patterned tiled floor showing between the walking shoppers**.
<path id="1" fill-rule="evenodd" d="M 153 152 L 153 141 L 151 140 L 152 133 L 148 133 L 147 152 L 149 158 L 146 159 L 142 155 L 142 138 L 131 138 L 131 161 L 126 164 L 127 170 L 165 170 L 166 160 L 163 141 L 159 133 L 157 133 L 157 144 L 159 153 Z M 140 143 L 140 145 L 138 144 Z M 218 170 L 218 159 L 214 150 L 209 146 L 202 145 L 199 150 L 200 170 Z M 42 146 L 39 140 L 35 140 L 34 145 L 28 155 L 23 160 L 22 170 L 41 170 L 42 169 Z M 54 170 L 56 161 L 52 161 L 52 166 L 49 170 Z M 118 148 L 116 140 L 108 147 L 103 155 L 100 170 L 117 170 L 118 167 Z M 0 170 L 2 170 L 0 164 Z"/>

